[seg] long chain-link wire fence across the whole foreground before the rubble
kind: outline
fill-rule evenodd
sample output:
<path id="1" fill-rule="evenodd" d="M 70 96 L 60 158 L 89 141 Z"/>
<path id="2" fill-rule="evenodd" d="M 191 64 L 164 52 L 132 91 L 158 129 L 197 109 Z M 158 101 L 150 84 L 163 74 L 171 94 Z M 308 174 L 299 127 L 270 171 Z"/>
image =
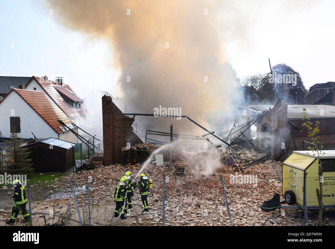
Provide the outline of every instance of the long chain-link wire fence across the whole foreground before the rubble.
<path id="1" fill-rule="evenodd" d="M 78 178 L 79 176 L 80 174 Z M 320 189 L 320 181 L 317 175 L 284 177 L 281 183 L 282 193 L 279 194 L 280 188 L 277 186 L 277 190 L 269 195 L 271 199 L 264 196 L 249 200 L 251 194 L 270 188 L 273 183 L 260 179 L 257 186 L 233 183 L 233 177 L 229 174 L 224 174 L 221 178 L 214 174 L 180 176 L 167 173 L 155 175 L 153 188 L 144 198 L 136 184 L 139 178 L 135 179 L 132 193 L 127 192 L 127 198 L 121 197 L 121 202 L 114 200 L 120 179 L 108 178 L 108 184 L 104 185 L 90 177 L 87 177 L 86 182 L 76 181 L 75 178 L 76 175 L 71 177 L 71 181 L 58 180 L 44 187 L 26 185 L 28 201 L 24 203 L 24 208 L 20 208 L 14 225 L 230 226 L 250 225 L 250 222 L 270 225 L 268 221 L 271 223 L 271 219 L 277 224 L 285 222 L 280 212 L 274 212 L 274 216 L 270 217 L 266 214 L 283 209 L 283 206 L 306 210 L 305 222 L 308 222 L 307 210 L 319 209 L 317 189 Z M 335 177 L 325 173 L 322 178 L 324 208 L 335 207 L 334 179 Z M 12 188 L 1 189 L 0 226 L 6 225 L 5 222 L 13 216 L 12 193 Z M 30 212 L 30 224 L 23 223 L 25 219 L 22 210 Z"/>

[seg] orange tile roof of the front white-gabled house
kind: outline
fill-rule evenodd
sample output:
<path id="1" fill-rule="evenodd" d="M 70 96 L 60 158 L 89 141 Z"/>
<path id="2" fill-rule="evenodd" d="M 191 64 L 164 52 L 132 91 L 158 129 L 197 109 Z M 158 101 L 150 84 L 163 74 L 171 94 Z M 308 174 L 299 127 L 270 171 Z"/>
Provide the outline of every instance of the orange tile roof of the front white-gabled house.
<path id="1" fill-rule="evenodd" d="M 59 107 L 47 96 L 40 91 L 30 91 L 22 89 L 13 89 L 8 93 L 0 104 L 6 99 L 6 97 L 12 92 L 16 92 L 37 114 L 39 114 L 44 121 L 56 132 L 61 133 L 64 131 L 62 125 L 57 119 L 62 120 L 66 125 L 71 124 L 71 119 L 61 110 Z"/>

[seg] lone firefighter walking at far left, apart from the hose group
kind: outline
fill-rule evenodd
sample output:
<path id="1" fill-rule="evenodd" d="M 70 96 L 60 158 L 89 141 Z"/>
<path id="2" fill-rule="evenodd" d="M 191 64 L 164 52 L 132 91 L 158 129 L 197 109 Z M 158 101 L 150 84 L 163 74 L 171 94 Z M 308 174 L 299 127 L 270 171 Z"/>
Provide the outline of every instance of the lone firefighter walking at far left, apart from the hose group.
<path id="1" fill-rule="evenodd" d="M 14 180 L 12 182 L 15 190 L 12 194 L 12 198 L 14 198 L 14 205 L 12 209 L 12 216 L 9 221 L 6 221 L 6 224 L 13 225 L 17 215 L 21 212 L 24 218 L 23 223 L 26 223 L 29 220 L 29 212 L 26 210 L 25 206 L 27 203 L 27 197 L 25 194 L 24 186 L 20 183 L 19 180 Z"/>

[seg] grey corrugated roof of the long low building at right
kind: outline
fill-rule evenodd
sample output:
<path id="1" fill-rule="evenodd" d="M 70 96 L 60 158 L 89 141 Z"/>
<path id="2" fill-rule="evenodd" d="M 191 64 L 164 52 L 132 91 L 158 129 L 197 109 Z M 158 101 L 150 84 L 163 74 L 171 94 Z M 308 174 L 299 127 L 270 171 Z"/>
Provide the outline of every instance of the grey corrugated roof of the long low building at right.
<path id="1" fill-rule="evenodd" d="M 269 111 L 273 105 L 246 105 L 243 108 L 250 108 L 256 111 Z M 309 118 L 335 117 L 335 106 L 333 105 L 287 105 L 287 119 L 301 119 L 303 108 L 307 110 Z"/>

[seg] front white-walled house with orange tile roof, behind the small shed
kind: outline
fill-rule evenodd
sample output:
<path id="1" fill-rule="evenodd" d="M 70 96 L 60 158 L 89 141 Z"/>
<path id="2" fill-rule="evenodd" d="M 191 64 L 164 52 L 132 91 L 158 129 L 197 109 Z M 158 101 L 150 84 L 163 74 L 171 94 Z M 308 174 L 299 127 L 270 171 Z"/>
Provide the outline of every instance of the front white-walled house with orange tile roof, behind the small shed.
<path id="1" fill-rule="evenodd" d="M 0 102 L 0 116 L 0 131 L 4 138 L 9 138 L 11 129 L 15 129 L 18 138 L 29 139 L 35 135 L 39 140 L 57 138 L 77 143 L 77 137 L 57 120 L 71 129 L 74 128 L 73 121 L 43 91 L 12 89 Z M 77 132 L 77 129 L 73 130 Z"/>

